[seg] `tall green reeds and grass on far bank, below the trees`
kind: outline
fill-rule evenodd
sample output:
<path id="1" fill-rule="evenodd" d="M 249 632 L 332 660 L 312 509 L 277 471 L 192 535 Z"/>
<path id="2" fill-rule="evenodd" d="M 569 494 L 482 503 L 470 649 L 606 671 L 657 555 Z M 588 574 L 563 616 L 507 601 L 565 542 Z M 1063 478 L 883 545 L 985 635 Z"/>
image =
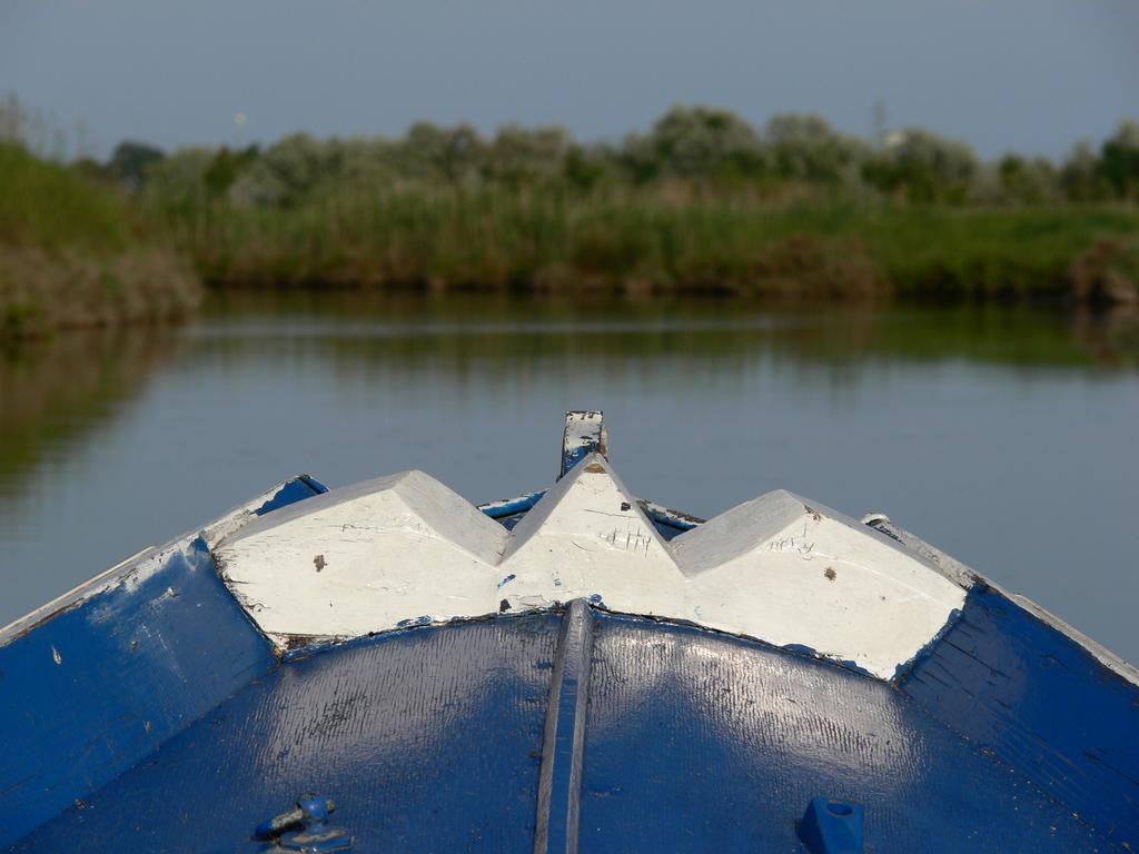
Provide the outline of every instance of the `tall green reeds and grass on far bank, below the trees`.
<path id="1" fill-rule="evenodd" d="M 165 213 L 218 287 L 1126 301 L 1139 211 L 664 190 L 345 191 Z"/>

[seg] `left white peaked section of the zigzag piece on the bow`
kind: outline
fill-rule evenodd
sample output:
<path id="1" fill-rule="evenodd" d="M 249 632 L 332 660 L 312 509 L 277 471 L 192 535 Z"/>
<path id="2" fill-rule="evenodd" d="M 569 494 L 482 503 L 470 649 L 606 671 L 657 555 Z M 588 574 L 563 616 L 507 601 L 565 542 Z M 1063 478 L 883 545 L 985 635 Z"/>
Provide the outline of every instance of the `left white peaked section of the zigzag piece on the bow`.
<path id="1" fill-rule="evenodd" d="M 261 517 L 214 551 L 222 578 L 279 646 L 402 621 L 493 613 L 507 532 L 421 471 Z"/>

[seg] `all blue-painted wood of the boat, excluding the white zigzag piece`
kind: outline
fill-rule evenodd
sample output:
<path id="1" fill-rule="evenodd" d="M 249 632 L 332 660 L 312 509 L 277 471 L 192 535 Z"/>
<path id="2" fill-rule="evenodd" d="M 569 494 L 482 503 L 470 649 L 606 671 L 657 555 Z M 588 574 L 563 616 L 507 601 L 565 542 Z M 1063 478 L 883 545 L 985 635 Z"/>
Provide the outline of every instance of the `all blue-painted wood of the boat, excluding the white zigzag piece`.
<path id="1" fill-rule="evenodd" d="M 1139 689 L 983 581 L 884 681 L 581 600 L 280 656 L 203 539 L 148 560 L 0 640 L 0 851 L 270 851 L 304 791 L 368 852 L 1139 846 Z"/>

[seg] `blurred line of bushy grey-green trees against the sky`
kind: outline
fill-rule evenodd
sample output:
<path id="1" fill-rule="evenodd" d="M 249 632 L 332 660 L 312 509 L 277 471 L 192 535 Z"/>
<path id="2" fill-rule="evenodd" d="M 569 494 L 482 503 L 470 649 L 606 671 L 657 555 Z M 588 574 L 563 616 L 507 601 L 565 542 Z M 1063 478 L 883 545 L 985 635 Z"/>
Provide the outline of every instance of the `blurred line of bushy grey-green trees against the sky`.
<path id="1" fill-rule="evenodd" d="M 412 125 L 399 138 L 286 137 L 261 148 L 186 148 L 137 141 L 109 161 L 76 162 L 90 176 L 166 203 L 288 208 L 344 188 L 557 188 L 606 192 L 682 187 L 772 197 L 797 191 L 912 204 L 1047 205 L 1139 200 L 1139 123 L 1060 162 L 1007 154 L 984 161 L 965 142 L 919 128 L 874 140 L 813 115 L 755 128 L 724 109 L 677 106 L 618 143 L 581 142 L 558 126 Z"/>

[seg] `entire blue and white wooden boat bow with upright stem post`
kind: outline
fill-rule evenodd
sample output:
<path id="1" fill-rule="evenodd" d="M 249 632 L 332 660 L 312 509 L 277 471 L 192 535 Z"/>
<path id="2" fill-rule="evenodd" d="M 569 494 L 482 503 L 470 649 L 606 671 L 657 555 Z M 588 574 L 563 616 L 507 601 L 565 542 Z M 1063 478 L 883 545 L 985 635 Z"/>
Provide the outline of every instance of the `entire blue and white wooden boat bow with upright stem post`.
<path id="1" fill-rule="evenodd" d="M 3 630 L 0 849 L 1139 845 L 1129 664 L 880 515 L 607 457 L 571 412 L 509 502 L 298 477 Z"/>

